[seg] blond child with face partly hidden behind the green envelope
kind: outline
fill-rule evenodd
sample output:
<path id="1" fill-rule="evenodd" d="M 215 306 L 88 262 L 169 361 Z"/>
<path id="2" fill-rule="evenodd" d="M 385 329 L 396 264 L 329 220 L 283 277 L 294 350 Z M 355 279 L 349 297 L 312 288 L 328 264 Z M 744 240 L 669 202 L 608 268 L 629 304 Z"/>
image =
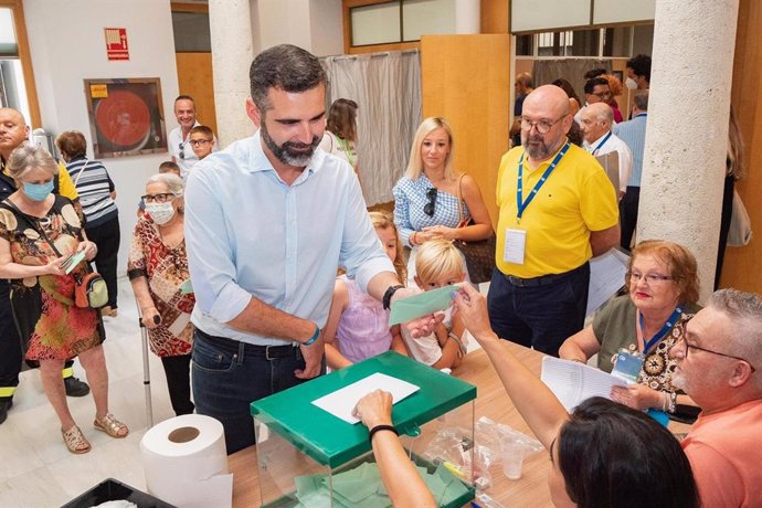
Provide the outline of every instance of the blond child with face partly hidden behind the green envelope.
<path id="1" fill-rule="evenodd" d="M 463 257 L 453 242 L 444 239 L 424 242 L 415 257 L 415 284 L 424 292 L 452 286 L 466 279 Z M 465 327 L 458 316 L 452 316 L 452 308 L 433 334 L 413 338 L 402 329 L 410 354 L 417 361 L 435 369 L 454 369 L 466 353 Z"/>

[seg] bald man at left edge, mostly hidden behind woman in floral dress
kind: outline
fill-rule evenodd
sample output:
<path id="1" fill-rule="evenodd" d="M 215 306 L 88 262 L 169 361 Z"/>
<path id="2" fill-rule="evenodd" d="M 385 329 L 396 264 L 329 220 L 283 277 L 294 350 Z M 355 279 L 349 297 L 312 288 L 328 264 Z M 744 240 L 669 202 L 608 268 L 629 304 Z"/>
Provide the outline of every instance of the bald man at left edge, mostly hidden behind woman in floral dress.
<path id="1" fill-rule="evenodd" d="M 17 190 L 15 181 L 6 168 L 6 161 L 11 152 L 29 138 L 29 126 L 21 113 L 10 107 L 0 108 L 0 201 Z M 73 201 L 77 199 L 74 183 L 66 169 L 61 166 L 53 192 Z M 0 424 L 6 421 L 8 410 L 13 405 L 21 362 L 21 340 L 13 321 L 10 286 L 8 281 L 0 281 Z M 66 394 L 84 396 L 89 393 L 89 387 L 74 377 L 73 363 L 71 360 L 67 361 L 63 371 Z"/>

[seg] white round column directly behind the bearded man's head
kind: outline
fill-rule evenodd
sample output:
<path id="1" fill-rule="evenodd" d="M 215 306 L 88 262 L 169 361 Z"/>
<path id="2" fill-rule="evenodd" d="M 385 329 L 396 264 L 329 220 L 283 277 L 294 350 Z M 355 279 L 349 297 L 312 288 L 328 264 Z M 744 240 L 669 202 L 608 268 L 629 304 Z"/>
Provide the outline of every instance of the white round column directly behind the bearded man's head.
<path id="1" fill-rule="evenodd" d="M 246 116 L 248 66 L 254 59 L 250 0 L 209 0 L 214 106 L 221 147 L 251 136 Z"/>

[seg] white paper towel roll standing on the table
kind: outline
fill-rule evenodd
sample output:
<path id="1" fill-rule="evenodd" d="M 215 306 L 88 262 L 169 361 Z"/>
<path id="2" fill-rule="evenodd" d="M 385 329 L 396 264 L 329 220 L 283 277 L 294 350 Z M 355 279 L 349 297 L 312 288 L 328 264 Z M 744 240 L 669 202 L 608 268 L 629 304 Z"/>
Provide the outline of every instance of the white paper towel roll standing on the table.
<path id="1" fill-rule="evenodd" d="M 184 414 L 151 427 L 140 440 L 148 493 L 181 508 L 230 507 L 233 475 L 222 424 Z"/>

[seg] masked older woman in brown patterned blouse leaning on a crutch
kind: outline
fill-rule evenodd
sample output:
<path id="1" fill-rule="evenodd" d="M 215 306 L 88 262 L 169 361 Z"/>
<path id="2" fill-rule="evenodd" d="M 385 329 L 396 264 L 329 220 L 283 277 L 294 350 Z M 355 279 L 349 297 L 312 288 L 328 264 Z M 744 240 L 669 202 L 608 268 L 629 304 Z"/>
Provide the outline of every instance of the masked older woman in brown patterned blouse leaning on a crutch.
<path id="1" fill-rule="evenodd" d="M 151 351 L 161 358 L 174 413 L 190 414 L 190 359 L 195 298 L 183 292 L 190 279 L 183 232 L 183 183 L 171 173 L 148 179 L 146 214 L 133 233 L 127 275 L 148 328 Z"/>

